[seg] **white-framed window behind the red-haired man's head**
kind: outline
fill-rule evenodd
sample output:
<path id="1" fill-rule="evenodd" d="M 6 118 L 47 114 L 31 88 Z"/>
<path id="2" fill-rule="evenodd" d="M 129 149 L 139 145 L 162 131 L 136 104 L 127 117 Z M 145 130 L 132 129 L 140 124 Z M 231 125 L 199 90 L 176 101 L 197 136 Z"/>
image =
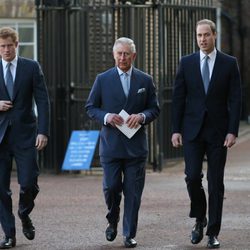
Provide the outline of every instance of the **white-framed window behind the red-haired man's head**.
<path id="1" fill-rule="evenodd" d="M 0 27 L 3 26 L 10 26 L 18 32 L 18 55 L 37 60 L 37 38 L 35 20 L 0 19 Z"/>

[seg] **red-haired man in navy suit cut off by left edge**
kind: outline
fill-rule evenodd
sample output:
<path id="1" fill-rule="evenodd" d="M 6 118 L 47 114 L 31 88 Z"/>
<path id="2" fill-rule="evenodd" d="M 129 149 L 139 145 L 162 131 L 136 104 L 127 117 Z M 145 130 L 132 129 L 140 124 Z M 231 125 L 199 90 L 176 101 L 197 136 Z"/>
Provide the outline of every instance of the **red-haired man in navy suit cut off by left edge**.
<path id="1" fill-rule="evenodd" d="M 35 228 L 29 217 L 39 192 L 37 150 L 47 144 L 49 99 L 39 64 L 16 55 L 18 34 L 0 29 L 0 222 L 5 238 L 0 249 L 16 245 L 10 177 L 13 158 L 20 184 L 18 216 L 29 240 Z M 38 119 L 34 112 L 37 106 Z"/>

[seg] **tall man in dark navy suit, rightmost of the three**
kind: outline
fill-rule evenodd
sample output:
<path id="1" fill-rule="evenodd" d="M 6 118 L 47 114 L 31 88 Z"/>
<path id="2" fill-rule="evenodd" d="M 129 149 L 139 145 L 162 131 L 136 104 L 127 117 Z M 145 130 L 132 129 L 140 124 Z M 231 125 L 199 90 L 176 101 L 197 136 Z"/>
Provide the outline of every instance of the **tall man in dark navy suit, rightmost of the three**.
<path id="1" fill-rule="evenodd" d="M 236 58 L 215 48 L 216 28 L 211 20 L 196 26 L 200 51 L 181 59 L 173 92 L 174 147 L 184 146 L 190 217 L 196 218 L 191 242 L 199 243 L 207 225 L 208 248 L 219 248 L 227 148 L 238 135 L 241 82 Z M 202 186 L 202 163 L 207 157 L 208 224 Z"/>

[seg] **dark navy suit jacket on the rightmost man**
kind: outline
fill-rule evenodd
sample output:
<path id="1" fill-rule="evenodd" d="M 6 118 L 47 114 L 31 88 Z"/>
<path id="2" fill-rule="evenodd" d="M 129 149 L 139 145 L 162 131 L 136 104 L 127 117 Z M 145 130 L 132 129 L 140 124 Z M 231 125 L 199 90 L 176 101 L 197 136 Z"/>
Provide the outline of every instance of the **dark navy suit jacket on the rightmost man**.
<path id="1" fill-rule="evenodd" d="M 241 80 L 236 58 L 217 51 L 214 68 L 205 94 L 199 52 L 181 59 L 173 91 L 173 132 L 193 140 L 205 114 L 225 138 L 238 135 L 241 111 Z"/>

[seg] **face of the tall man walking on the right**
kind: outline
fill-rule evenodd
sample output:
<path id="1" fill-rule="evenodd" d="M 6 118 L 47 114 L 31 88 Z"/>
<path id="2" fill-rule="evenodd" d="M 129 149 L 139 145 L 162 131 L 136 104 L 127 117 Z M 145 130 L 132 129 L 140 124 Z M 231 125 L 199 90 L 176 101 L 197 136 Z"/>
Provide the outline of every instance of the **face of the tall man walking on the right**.
<path id="1" fill-rule="evenodd" d="M 200 24 L 196 28 L 197 44 L 201 51 L 209 54 L 214 50 L 216 33 L 213 33 L 208 24 Z"/>

